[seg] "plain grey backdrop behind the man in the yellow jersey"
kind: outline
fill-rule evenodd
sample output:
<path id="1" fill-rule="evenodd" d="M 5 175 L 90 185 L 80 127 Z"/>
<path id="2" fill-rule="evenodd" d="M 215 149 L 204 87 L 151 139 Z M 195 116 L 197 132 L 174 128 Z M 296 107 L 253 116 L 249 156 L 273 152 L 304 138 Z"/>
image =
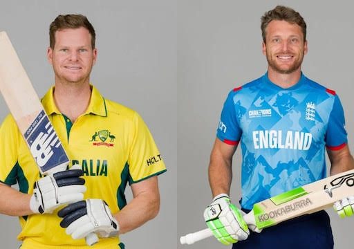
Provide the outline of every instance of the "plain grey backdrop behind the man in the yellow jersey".
<path id="1" fill-rule="evenodd" d="M 48 26 L 59 14 L 86 15 L 97 33 L 91 82 L 106 98 L 140 113 L 165 159 L 160 214 L 124 234 L 127 248 L 176 248 L 176 12 L 174 1 L 2 1 L 6 30 L 41 96 L 54 83 L 46 61 Z M 1 56 L 1 55 L 0 55 Z M 0 119 L 8 113 L 0 98 Z M 131 196 L 130 188 L 126 193 Z M 1 198 L 1 196 L 0 196 Z M 18 248 L 19 222 L 0 215 L 1 248 Z"/>

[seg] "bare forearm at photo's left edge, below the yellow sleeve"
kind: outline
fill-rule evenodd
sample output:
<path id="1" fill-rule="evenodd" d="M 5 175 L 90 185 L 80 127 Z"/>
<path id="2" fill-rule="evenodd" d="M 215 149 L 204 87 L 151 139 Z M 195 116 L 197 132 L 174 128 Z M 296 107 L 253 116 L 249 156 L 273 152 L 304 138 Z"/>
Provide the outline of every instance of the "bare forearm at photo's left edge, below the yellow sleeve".
<path id="1" fill-rule="evenodd" d="M 10 216 L 33 214 L 30 210 L 30 194 L 21 193 L 8 185 L 0 184 L 0 213 Z"/>

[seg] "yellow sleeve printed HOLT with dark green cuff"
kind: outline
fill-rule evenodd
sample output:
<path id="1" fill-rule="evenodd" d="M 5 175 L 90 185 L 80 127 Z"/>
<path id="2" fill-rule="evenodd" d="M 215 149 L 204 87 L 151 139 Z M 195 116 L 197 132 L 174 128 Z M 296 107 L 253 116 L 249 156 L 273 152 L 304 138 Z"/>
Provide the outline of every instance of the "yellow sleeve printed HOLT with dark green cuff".
<path id="1" fill-rule="evenodd" d="M 133 140 L 129 154 L 129 183 L 137 183 L 166 171 L 160 151 L 138 113 L 133 118 Z"/>

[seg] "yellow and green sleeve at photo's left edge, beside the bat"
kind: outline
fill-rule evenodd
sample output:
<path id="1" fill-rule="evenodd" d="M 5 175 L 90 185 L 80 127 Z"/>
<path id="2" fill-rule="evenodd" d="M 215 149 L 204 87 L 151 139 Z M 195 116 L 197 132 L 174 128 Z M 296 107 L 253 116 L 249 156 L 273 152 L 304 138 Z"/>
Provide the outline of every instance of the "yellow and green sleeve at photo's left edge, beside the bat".
<path id="1" fill-rule="evenodd" d="M 7 185 L 17 183 L 19 130 L 12 116 L 0 126 L 0 181 Z"/>

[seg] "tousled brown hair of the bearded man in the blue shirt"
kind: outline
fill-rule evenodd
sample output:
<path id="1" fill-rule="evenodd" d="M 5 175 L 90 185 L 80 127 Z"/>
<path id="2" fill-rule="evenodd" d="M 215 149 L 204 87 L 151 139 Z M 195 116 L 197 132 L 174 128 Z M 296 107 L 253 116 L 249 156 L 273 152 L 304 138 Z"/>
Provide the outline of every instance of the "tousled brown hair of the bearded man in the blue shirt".
<path id="1" fill-rule="evenodd" d="M 301 17 L 299 12 L 296 12 L 292 8 L 286 6 L 277 6 L 273 10 L 265 12 L 263 17 L 261 17 L 261 30 L 263 42 L 265 43 L 265 30 L 267 29 L 270 21 L 288 21 L 290 24 L 297 24 L 301 27 L 302 33 L 304 35 L 304 41 L 306 41 L 306 22 L 304 18 Z"/>

